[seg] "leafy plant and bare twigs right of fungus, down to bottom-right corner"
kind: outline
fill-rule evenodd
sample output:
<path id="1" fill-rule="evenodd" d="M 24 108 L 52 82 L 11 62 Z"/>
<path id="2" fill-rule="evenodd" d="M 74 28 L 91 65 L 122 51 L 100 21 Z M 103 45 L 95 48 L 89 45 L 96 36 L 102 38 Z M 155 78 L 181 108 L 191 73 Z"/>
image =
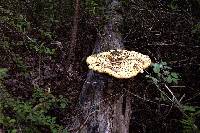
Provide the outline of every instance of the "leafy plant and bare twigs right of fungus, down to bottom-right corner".
<path id="1" fill-rule="evenodd" d="M 151 84 L 154 84 L 160 92 L 160 101 L 172 104 L 182 112 L 179 120 L 183 133 L 199 133 L 200 129 L 196 125 L 200 118 L 200 106 L 192 106 L 190 103 L 182 104 L 184 95 L 178 100 L 170 89 L 169 85 L 178 85 L 181 76 L 172 72 L 172 68 L 166 62 L 152 63 L 152 73 L 146 75 Z"/>

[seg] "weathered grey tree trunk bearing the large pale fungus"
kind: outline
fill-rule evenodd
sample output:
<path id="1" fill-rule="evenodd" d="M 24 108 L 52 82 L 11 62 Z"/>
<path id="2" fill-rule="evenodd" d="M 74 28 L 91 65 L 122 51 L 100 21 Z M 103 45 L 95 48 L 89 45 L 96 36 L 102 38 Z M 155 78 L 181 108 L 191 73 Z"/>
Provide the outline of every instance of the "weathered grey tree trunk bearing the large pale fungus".
<path id="1" fill-rule="evenodd" d="M 110 49 L 123 49 L 119 26 L 122 24 L 122 15 L 118 10 L 121 5 L 118 0 L 108 4 L 108 22 L 103 33 L 96 41 L 93 53 Z M 93 71 L 89 71 L 80 95 L 82 108 L 82 123 L 80 133 L 128 133 L 131 114 L 130 98 L 121 95 L 115 100 L 105 99 L 104 93 L 114 85 L 108 81 L 112 79 Z M 109 87 L 108 87 L 109 86 Z"/>

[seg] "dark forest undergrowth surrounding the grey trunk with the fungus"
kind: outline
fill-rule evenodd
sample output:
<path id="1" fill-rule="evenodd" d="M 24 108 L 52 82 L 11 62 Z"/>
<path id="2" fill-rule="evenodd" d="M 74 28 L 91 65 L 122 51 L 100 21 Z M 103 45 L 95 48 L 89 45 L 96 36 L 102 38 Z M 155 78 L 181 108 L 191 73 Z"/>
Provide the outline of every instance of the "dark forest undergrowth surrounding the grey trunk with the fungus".
<path id="1" fill-rule="evenodd" d="M 130 132 L 200 132 L 200 1 L 120 2 L 125 48 L 153 62 L 137 77 L 114 82 L 112 97 L 132 97 Z M 75 1 L 0 1 L 0 133 L 73 131 L 85 60 L 109 19 L 104 1 L 79 4 L 69 71 Z"/>

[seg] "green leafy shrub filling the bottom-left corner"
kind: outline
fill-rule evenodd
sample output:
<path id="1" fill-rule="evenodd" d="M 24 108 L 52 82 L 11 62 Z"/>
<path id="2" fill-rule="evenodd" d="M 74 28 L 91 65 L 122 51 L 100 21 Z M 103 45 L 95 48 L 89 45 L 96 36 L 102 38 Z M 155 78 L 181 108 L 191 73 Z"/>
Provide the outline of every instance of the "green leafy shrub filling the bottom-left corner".
<path id="1" fill-rule="evenodd" d="M 0 76 L 6 71 L 0 69 Z M 50 115 L 53 109 L 66 108 L 67 100 L 63 96 L 57 98 L 41 88 L 35 88 L 32 99 L 26 101 L 11 97 L 5 89 L 0 94 L 0 124 L 4 130 L 10 133 L 67 132 L 57 123 L 56 117 Z"/>

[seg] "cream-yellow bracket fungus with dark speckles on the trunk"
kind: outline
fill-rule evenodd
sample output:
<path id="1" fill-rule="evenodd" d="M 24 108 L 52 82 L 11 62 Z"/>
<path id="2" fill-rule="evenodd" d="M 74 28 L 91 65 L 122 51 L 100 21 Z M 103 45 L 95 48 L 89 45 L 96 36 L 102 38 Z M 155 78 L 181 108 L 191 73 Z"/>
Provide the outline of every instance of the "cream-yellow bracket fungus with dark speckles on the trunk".
<path id="1" fill-rule="evenodd" d="M 123 79 L 143 73 L 151 64 L 151 59 L 135 51 L 117 49 L 91 55 L 86 62 L 89 69 Z"/>

